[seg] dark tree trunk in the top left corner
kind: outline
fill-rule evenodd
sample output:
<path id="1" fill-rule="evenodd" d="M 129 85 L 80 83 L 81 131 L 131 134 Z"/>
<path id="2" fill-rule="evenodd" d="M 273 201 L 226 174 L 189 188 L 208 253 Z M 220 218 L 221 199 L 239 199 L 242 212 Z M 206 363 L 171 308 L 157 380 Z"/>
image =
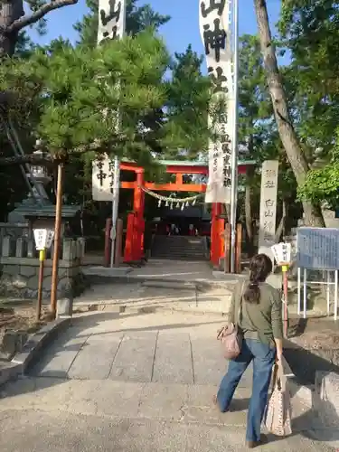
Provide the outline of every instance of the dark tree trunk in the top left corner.
<path id="1" fill-rule="evenodd" d="M 5 0 L 0 5 L 0 58 L 12 56 L 18 39 L 18 33 L 6 33 L 14 21 L 24 15 L 23 0 Z"/>

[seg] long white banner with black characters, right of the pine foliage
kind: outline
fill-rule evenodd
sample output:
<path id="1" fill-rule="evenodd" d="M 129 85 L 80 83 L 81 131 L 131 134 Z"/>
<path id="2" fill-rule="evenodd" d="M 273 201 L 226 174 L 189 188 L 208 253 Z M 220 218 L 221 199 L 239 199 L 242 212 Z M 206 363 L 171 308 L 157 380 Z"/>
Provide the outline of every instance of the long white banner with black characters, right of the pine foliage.
<path id="1" fill-rule="evenodd" d="M 234 110 L 231 67 L 231 0 L 200 0 L 200 33 L 213 98 L 227 105 L 221 118 L 209 118 L 215 135 L 209 144 L 209 180 L 205 202 L 231 202 L 231 141 Z"/>

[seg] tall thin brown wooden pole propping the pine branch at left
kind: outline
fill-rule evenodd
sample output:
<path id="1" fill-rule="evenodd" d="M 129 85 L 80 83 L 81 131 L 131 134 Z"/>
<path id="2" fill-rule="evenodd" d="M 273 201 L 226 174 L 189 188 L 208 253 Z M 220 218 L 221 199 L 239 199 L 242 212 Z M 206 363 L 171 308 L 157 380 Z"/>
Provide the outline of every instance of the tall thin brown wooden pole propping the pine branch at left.
<path id="1" fill-rule="evenodd" d="M 63 186 L 64 164 L 58 165 L 58 184 L 55 207 L 55 226 L 54 226 L 54 250 L 52 262 L 52 287 L 51 287 L 51 312 L 52 317 L 56 316 L 57 308 L 57 289 L 58 289 L 58 269 L 59 269 L 59 251 L 61 245 L 61 212 L 62 212 L 62 186 Z"/>

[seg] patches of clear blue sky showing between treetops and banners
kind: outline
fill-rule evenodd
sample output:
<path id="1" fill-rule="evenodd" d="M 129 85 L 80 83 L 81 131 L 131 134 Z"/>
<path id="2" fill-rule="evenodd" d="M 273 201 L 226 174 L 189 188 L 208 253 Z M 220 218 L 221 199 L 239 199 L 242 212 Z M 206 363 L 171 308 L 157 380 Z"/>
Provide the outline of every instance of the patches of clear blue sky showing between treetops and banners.
<path id="1" fill-rule="evenodd" d="M 172 19 L 159 32 L 163 35 L 171 53 L 184 52 L 191 43 L 193 50 L 203 53 L 202 40 L 199 32 L 199 0 L 139 0 L 139 4 L 149 4 L 160 14 L 169 14 Z M 240 34 L 257 33 L 253 0 L 239 0 Z M 268 0 L 270 24 L 278 21 L 280 0 Z M 46 44 L 59 36 L 68 38 L 71 42 L 77 39 L 77 33 L 72 25 L 86 14 L 85 0 L 79 0 L 78 5 L 65 6 L 48 14 L 48 33 L 42 37 L 31 33 L 35 42 Z"/>

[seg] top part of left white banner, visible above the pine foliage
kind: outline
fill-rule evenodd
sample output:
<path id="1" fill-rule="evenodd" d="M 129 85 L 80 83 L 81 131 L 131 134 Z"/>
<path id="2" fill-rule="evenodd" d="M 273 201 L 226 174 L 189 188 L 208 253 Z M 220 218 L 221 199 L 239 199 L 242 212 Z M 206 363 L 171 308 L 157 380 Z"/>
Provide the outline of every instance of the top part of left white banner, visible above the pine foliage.
<path id="1" fill-rule="evenodd" d="M 98 44 L 125 33 L 126 0 L 99 0 Z"/>

